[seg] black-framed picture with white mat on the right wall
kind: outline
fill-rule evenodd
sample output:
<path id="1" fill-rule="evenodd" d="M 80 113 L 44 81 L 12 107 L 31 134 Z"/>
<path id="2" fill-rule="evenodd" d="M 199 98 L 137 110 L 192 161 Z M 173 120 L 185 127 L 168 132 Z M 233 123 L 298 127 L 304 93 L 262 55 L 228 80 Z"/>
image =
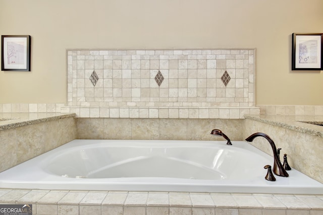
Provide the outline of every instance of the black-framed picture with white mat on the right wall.
<path id="1" fill-rule="evenodd" d="M 292 70 L 322 70 L 323 33 L 292 34 Z"/>

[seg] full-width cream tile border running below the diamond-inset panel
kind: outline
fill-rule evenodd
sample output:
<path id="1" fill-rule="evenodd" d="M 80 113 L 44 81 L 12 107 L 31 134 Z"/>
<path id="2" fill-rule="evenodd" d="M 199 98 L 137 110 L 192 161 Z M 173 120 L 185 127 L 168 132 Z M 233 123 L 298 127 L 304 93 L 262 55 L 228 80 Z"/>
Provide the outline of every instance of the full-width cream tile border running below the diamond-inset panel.
<path id="1" fill-rule="evenodd" d="M 65 103 L 0 103 L 0 113 L 64 113 L 89 118 L 244 119 L 244 115 L 323 116 L 320 105 L 198 106 L 66 106 Z"/>

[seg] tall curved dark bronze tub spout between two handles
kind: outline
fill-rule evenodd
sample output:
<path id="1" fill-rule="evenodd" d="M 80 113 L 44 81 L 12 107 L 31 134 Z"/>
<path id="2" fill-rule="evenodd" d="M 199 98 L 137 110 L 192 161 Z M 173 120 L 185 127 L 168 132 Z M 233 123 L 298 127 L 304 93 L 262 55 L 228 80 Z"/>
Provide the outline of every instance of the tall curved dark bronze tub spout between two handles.
<path id="1" fill-rule="evenodd" d="M 272 140 L 272 138 L 270 138 L 270 136 L 268 136 L 268 135 L 266 135 L 264 133 L 254 133 L 254 134 L 251 134 L 246 139 L 246 141 L 252 142 L 252 140 L 255 137 L 259 137 L 259 136 L 266 138 L 266 140 L 268 140 L 268 142 L 272 146 L 272 149 L 273 149 L 273 152 L 274 152 L 274 166 L 273 166 L 273 172 L 274 172 L 274 174 L 275 175 L 278 175 L 278 176 L 282 176 L 282 177 L 288 177 L 288 173 L 286 172 L 286 170 L 284 169 L 282 163 L 279 160 L 279 156 L 278 156 L 278 152 L 277 152 L 277 149 L 276 149 L 276 145 L 275 145 L 274 141 Z"/>

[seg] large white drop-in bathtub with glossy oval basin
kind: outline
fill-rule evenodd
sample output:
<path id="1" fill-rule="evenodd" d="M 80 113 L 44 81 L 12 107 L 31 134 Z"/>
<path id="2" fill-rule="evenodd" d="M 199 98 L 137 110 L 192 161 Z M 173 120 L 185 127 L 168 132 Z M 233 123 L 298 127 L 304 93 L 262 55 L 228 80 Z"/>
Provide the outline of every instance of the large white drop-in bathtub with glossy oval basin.
<path id="1" fill-rule="evenodd" d="M 263 167 L 273 165 L 273 157 L 244 141 L 232 144 L 226 145 L 225 141 L 73 140 L 0 173 L 0 187 L 323 193 L 323 184 L 296 170 L 289 171 L 288 178 L 275 176 L 276 182 L 266 181 L 267 170 Z"/>

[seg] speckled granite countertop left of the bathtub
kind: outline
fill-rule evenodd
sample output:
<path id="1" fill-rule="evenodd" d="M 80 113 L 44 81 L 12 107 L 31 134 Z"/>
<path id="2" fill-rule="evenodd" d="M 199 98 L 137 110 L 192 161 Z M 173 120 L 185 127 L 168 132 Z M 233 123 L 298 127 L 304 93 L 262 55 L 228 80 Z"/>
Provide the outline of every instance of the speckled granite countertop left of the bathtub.
<path id="1" fill-rule="evenodd" d="M 68 117 L 75 117 L 75 114 L 0 113 L 0 131 Z"/>

